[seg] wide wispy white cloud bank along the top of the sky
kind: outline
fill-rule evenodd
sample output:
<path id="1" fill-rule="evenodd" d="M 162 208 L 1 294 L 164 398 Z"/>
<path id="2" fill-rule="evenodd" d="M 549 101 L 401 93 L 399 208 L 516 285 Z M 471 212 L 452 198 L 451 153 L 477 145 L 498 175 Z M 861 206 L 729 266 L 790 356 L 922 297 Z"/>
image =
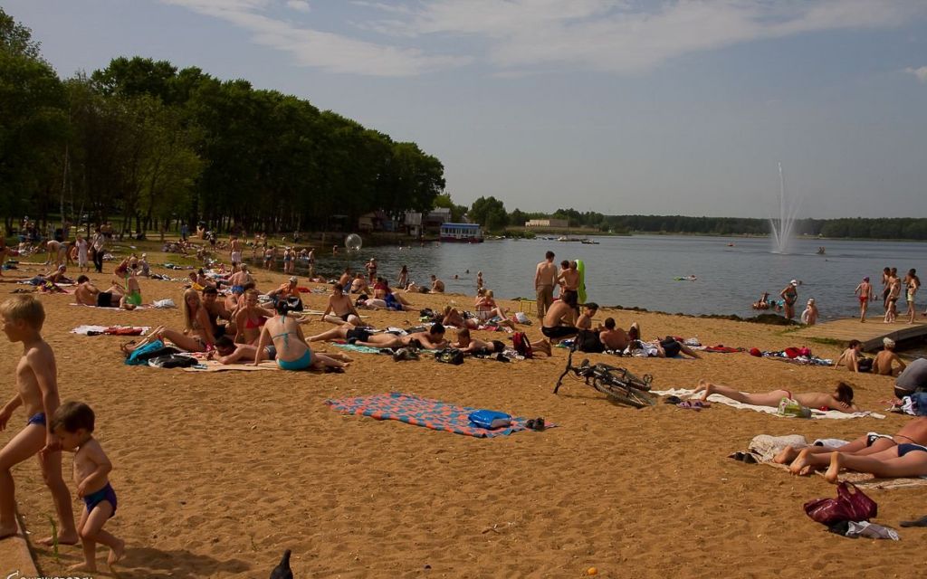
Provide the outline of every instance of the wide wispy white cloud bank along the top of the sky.
<path id="1" fill-rule="evenodd" d="M 634 73 L 692 53 L 815 31 L 892 28 L 927 13 L 922 0 L 353 0 L 340 5 L 361 12 L 362 19 L 351 14 L 327 24 L 349 24 L 357 36 L 392 39 L 373 43 L 268 16 L 281 3 L 308 8 L 304 0 L 161 1 L 233 22 L 251 31 L 254 42 L 286 51 L 302 65 L 384 76 L 458 67 L 476 57 L 506 76 L 564 67 Z M 472 42 L 456 42 L 462 39 Z M 457 54 L 438 56 L 422 48 L 434 45 Z M 463 50 L 475 54 L 460 54 Z"/>

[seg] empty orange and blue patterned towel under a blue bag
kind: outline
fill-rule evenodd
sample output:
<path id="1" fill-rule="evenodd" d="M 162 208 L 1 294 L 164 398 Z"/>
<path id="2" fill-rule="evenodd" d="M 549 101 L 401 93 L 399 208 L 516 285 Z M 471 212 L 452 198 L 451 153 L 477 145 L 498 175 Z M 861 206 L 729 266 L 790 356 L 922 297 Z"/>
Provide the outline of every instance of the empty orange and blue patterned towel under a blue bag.
<path id="1" fill-rule="evenodd" d="M 520 417 L 512 419 L 512 426 L 508 428 L 497 430 L 477 428 L 470 422 L 469 416 L 471 412 L 478 409 L 400 392 L 329 399 L 325 400 L 325 404 L 345 414 L 361 414 L 380 421 L 406 422 L 432 430 L 444 430 L 476 438 L 492 438 L 527 430 L 524 426 L 527 419 Z M 552 428 L 554 424 L 547 422 L 545 427 Z"/>

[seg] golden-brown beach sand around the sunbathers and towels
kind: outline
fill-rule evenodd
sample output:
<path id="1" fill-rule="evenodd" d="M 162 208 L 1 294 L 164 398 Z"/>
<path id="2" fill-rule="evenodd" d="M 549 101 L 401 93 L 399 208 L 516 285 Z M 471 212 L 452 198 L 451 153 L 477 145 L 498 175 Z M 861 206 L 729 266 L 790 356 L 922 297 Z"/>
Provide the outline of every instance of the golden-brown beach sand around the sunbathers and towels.
<path id="1" fill-rule="evenodd" d="M 110 276 L 91 277 L 104 283 Z M 283 276 L 261 271 L 257 278 L 271 289 Z M 146 280 L 142 288 L 146 300 L 181 302 L 180 283 Z M 324 296 L 304 298 L 308 307 L 324 308 Z M 123 578 L 266 577 L 285 548 L 293 549 L 297 577 L 576 577 L 590 567 L 603 577 L 909 577 L 921 568 L 910 547 L 922 545 L 927 531 L 899 529 L 898 543 L 831 535 L 802 510 L 807 500 L 835 494 L 822 477 L 726 458 L 755 434 L 894 433 L 904 417 L 811 422 L 721 405 L 634 410 L 577 382 L 554 396 L 566 358 L 560 349 L 552 359 L 468 359 L 462 366 L 352 354 L 355 363 L 344 374 L 129 367 L 118 347 L 124 338 L 70 329 L 180 327 L 179 309 L 126 313 L 73 308 L 71 296 L 41 299 L 62 399 L 95 409 L 97 437 L 114 465 L 110 480 L 120 502 L 107 528 L 127 543 Z M 411 299 L 432 308 L 451 299 L 464 308 L 473 303 L 469 296 Z M 607 315 L 626 328 L 639 321 L 645 337 L 697 336 L 705 345 L 761 349 L 805 345 L 779 327 L 629 311 L 600 312 L 597 320 Z M 402 326 L 417 316 L 375 312 L 370 321 Z M 307 333 L 329 327 L 313 321 Z M 538 325 L 527 334 L 540 337 Z M 836 346 L 808 346 L 822 357 L 839 353 Z M 0 342 L 7 395 L 19 351 Z M 812 391 L 849 379 L 866 409 L 883 409 L 893 384 L 744 353 L 589 358 L 651 373 L 654 389 L 707 378 L 747 391 Z M 323 403 L 388 391 L 542 416 L 560 428 L 476 439 L 344 416 Z M 11 424 L 25 420 L 19 410 Z M 0 433 L 0 444 L 15 432 Z M 68 478 L 69 455 L 64 462 Z M 47 535 L 54 510 L 36 464 L 20 465 L 14 476 L 30 534 Z M 897 528 L 899 520 L 925 514 L 923 492 L 872 491 L 876 521 Z M 75 497 L 75 513 L 80 508 Z M 45 575 L 67 574 L 81 557 L 80 548 L 61 548 L 57 557 L 33 548 Z"/>

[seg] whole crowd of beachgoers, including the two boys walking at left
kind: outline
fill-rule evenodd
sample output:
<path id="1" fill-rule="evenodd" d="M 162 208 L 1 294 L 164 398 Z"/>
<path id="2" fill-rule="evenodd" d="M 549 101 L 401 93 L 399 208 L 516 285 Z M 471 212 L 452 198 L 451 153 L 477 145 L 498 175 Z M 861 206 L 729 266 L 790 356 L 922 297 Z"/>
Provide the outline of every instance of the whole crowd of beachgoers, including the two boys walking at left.
<path id="1" fill-rule="evenodd" d="M 205 235 L 203 232 L 200 234 Z M 77 266 L 82 272 L 73 281 L 76 304 L 128 310 L 143 306 L 145 302 L 138 280 L 152 275 L 146 254 L 140 257 L 132 254 L 119 260 L 106 290 L 100 290 L 83 273 L 84 270 L 89 271 L 90 258 L 93 258 L 95 271 L 103 271 L 103 259 L 111 237 L 111 231 L 107 234 L 102 228 L 97 228 L 90 240 L 83 240 L 78 235 L 69 244 L 63 241 L 56 242 L 57 245 L 45 242 L 46 264 L 54 265 L 56 270 L 33 279 L 40 282 L 38 285 L 71 283 L 64 273 L 70 265 L 70 248 L 73 248 Z M 510 312 L 495 300 L 492 290 L 484 283 L 481 271 L 476 276 L 472 312 L 463 311 L 453 303 L 438 312 L 425 311 L 413 305 L 414 296 L 422 292 L 442 294 L 445 286 L 437 275 L 431 275 L 431 283 L 423 288 L 410 280 L 409 270 L 403 265 L 397 276 L 397 289 L 393 289 L 382 275 L 376 258 L 370 258 L 362 271 L 352 272 L 346 268 L 337 279 L 326 281 L 316 276 L 313 270 L 314 248 L 297 250 L 295 246 L 287 245 L 283 250 L 285 274 L 294 273 L 295 260 L 305 258 L 311 271 L 309 280 L 330 284 L 324 310 L 311 310 L 306 307 L 302 295 L 324 290 L 300 286 L 295 274 L 277 287 L 259 289 L 242 256 L 246 246 L 252 245 L 253 255 L 263 256 L 268 270 L 273 270 L 275 248 L 268 245 L 266 237 L 259 236 L 252 244 L 243 243 L 235 235 L 227 244 L 217 243 L 214 237 L 208 241 L 212 248 L 224 247 L 228 251 L 230 265 L 226 267 L 212 262 L 210 271 L 205 268 L 190 271 L 184 280 L 187 287 L 181 304 L 182 327 L 160 325 L 137 342 L 122 345 L 122 353 L 128 359 L 141 358 L 171 344 L 219 364 L 258 366 L 273 360 L 271 363 L 283 371 L 314 369 L 344 372 L 352 364 L 349 355 L 313 350 L 312 346 L 334 342 L 353 348 L 389 349 L 396 359 L 414 359 L 420 350 L 445 348 L 474 357 L 497 357 L 513 350 L 515 345 L 509 346 L 498 339 L 482 339 L 473 332 L 491 329 L 525 337 L 518 332 L 519 324 L 531 323 L 524 312 Z M 184 233 L 179 243 L 187 247 L 191 242 Z M 62 250 L 62 247 L 66 249 Z M 6 258 L 6 246 L 3 253 Z M 550 358 L 553 347 L 569 340 L 570 347 L 590 353 L 700 358 L 700 354 L 679 337 L 667 335 L 644 340 L 638 322 L 631 323 L 627 330 L 618 327 L 612 317 L 597 324 L 594 318 L 599 306 L 594 302 L 579 301 L 579 295 L 585 289 L 578 263 L 563 260 L 558 267 L 554 259 L 554 253 L 548 251 L 538 263 L 534 276 L 534 313 L 541 337 L 527 341 L 524 349 L 514 347 L 516 355 L 530 352 L 529 356 L 522 356 L 527 358 L 534 353 L 542 353 Z M 900 296 L 902 284 L 907 291 L 909 321 L 914 321 L 914 297 L 920 280 L 912 269 L 902 282 L 895 270 L 889 268 L 885 268 L 883 274 L 885 321 L 890 321 L 890 314 L 894 321 L 895 301 Z M 798 286 L 799 283 L 793 280 L 780 292 L 787 318 L 794 317 Z M 867 305 L 874 300 L 868 277 L 857 286 L 856 294 L 861 308 L 860 320 L 865 321 Z M 762 301 L 767 301 L 766 296 Z M 364 321 L 361 312 L 375 309 L 417 310 L 423 323 L 408 329 L 374 328 Z M 0 317 L 7 338 L 23 345 L 17 369 L 17 393 L 0 408 L 0 430 L 8 426 L 13 412 L 20 407 L 25 409 L 28 417 L 24 429 L 0 450 L 0 538 L 18 532 L 11 469 L 22 460 L 38 456 L 57 509 L 57 535 L 49 537 L 46 542 L 62 545 L 82 542 L 84 560 L 79 567 L 91 572 L 95 571 L 96 565 L 95 546 L 107 546 L 110 549 L 108 563 L 113 565 L 122 557 L 124 542 L 104 530 L 108 519 L 116 512 L 117 498 L 108 482 L 112 465 L 94 438 L 94 410 L 81 402 L 60 402 L 55 354 L 41 334 L 45 312 L 38 299 L 32 295 L 7 299 L 0 304 Z M 811 299 L 803 321 L 811 324 L 817 318 L 817 308 Z M 325 322 L 332 327 L 307 335 L 303 327 L 312 321 Z M 453 339 L 448 336 L 450 328 L 455 333 Z M 906 364 L 894 350 L 895 343 L 886 338 L 883 351 L 866 361 L 860 343 L 853 341 L 834 367 L 863 371 L 869 365 L 874 373 L 895 376 L 894 395 L 899 401 L 906 396 L 927 392 L 927 359 L 916 359 Z M 777 407 L 784 399 L 811 409 L 859 410 L 854 402 L 853 386 L 844 381 L 839 381 L 832 392 L 809 393 L 789 389 L 743 393 L 739 388 L 700 381 L 692 394 L 693 398 L 702 401 L 707 401 L 712 395 L 761 407 Z M 927 397 L 927 394 L 924 396 Z M 84 502 L 83 513 L 76 524 L 70 510 L 67 486 L 61 475 L 62 450 L 75 453 L 74 484 Z M 927 476 L 927 416 L 908 422 L 894 435 L 870 433 L 839 447 L 788 447 L 775 460 L 789 464 L 790 471 L 795 474 L 807 474 L 826 467 L 826 476 L 831 482 L 837 481 L 841 469 L 871 472 L 878 476 Z"/>

